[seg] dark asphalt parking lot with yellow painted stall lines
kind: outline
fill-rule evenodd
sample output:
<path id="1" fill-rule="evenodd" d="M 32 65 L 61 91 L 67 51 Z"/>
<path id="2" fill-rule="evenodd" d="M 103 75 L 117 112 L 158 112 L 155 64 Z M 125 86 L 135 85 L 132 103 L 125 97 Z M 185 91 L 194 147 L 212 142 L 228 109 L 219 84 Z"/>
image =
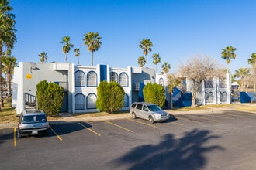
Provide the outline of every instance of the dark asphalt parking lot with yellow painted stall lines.
<path id="1" fill-rule="evenodd" d="M 256 114 L 225 110 L 142 119 L 50 122 L 47 136 L 0 130 L 0 169 L 255 169 Z"/>

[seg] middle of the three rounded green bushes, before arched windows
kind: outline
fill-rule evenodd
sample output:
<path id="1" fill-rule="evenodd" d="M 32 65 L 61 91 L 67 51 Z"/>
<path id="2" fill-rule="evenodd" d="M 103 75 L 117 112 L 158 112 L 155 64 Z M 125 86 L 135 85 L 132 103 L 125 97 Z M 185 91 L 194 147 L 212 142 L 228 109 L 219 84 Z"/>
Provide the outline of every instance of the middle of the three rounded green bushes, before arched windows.
<path id="1" fill-rule="evenodd" d="M 115 81 L 111 81 L 110 83 L 102 81 L 99 83 L 97 96 L 96 107 L 101 111 L 112 113 L 123 107 L 124 90 L 123 87 Z"/>

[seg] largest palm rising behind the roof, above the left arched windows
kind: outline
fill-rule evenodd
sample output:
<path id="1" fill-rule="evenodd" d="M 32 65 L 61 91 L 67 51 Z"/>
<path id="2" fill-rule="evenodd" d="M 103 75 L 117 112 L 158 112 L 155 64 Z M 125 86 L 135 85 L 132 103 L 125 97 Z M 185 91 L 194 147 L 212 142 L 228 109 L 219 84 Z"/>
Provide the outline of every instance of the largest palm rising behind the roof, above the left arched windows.
<path id="1" fill-rule="evenodd" d="M 88 32 L 84 36 L 85 38 L 83 39 L 83 41 L 85 42 L 85 45 L 87 46 L 88 51 L 92 53 L 92 66 L 93 66 L 93 53 L 97 51 L 102 45 L 102 42 L 100 41 L 102 37 L 99 37 L 98 32 Z"/>

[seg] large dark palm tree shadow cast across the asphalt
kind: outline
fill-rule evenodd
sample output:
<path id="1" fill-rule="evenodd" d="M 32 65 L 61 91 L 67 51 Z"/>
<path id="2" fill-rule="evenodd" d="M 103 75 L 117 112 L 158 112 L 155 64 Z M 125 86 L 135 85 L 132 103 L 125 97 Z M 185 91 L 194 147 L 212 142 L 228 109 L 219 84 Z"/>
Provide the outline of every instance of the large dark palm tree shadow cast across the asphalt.
<path id="1" fill-rule="evenodd" d="M 126 165 L 130 167 L 128 169 L 199 169 L 206 165 L 207 153 L 225 149 L 218 145 L 207 145 L 214 138 L 220 136 L 198 129 L 186 132 L 178 139 L 166 134 L 158 145 L 138 146 L 110 163 L 115 168 Z"/>

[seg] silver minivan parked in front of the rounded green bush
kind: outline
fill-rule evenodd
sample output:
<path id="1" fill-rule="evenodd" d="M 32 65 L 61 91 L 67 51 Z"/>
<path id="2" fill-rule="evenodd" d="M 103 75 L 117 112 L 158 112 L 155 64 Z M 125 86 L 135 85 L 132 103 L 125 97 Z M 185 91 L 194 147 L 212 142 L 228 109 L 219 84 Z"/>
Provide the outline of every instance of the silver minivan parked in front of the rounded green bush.
<path id="1" fill-rule="evenodd" d="M 146 102 L 134 102 L 130 107 L 130 114 L 133 119 L 140 117 L 149 120 L 150 123 L 155 121 L 167 121 L 170 115 L 164 110 L 161 110 L 156 104 Z"/>

